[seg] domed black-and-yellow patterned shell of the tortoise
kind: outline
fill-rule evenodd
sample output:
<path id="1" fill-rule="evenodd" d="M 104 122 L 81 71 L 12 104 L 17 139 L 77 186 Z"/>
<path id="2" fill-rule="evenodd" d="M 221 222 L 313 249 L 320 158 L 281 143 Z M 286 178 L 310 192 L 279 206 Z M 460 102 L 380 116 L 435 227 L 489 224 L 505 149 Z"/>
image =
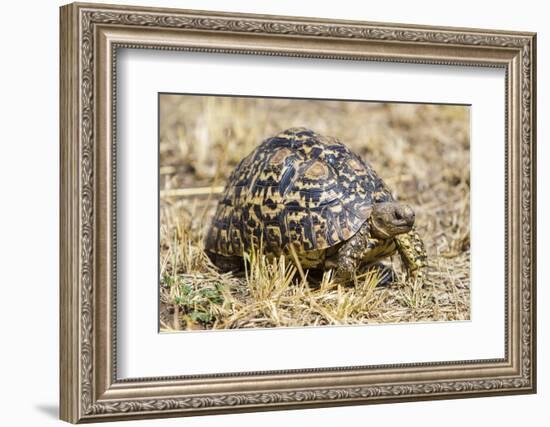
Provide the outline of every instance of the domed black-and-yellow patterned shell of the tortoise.
<path id="1" fill-rule="evenodd" d="M 253 245 L 278 256 L 348 240 L 374 203 L 392 201 L 376 172 L 336 138 L 291 128 L 263 141 L 232 172 L 206 249 L 242 256 Z"/>

